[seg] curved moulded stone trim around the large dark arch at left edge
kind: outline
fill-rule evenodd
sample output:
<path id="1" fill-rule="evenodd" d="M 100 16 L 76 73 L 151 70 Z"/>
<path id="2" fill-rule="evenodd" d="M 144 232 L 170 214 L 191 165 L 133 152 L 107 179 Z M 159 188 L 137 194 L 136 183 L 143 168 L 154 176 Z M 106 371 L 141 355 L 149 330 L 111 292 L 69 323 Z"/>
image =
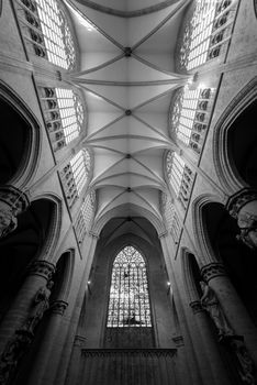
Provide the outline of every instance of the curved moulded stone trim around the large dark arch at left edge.
<path id="1" fill-rule="evenodd" d="M 38 167 L 42 147 L 41 124 L 29 106 L 24 103 L 22 98 L 2 80 L 0 80 L 0 98 L 11 106 L 30 127 L 29 140 L 25 150 L 27 155 L 22 158 L 19 169 L 13 177 L 8 180 L 9 185 L 24 189 L 35 175 Z"/>

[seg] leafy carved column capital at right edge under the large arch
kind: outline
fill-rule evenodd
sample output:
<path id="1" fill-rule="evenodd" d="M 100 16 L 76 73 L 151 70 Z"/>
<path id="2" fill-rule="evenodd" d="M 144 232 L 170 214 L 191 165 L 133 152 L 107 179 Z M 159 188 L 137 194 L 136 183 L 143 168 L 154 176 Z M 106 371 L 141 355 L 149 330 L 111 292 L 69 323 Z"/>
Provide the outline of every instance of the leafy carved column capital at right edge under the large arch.
<path id="1" fill-rule="evenodd" d="M 257 190 L 243 188 L 227 199 L 225 208 L 233 218 L 237 218 L 241 209 L 253 200 L 257 200 Z"/>

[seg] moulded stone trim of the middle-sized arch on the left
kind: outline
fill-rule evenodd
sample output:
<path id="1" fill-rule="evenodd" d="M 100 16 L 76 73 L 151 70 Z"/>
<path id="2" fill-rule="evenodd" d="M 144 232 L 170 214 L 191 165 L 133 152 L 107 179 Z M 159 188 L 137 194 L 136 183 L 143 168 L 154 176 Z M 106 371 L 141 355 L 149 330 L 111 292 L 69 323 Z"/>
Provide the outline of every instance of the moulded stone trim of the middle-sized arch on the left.
<path id="1" fill-rule="evenodd" d="M 62 228 L 62 217 L 63 217 L 63 207 L 62 207 L 62 199 L 52 193 L 45 193 L 44 195 L 34 196 L 31 199 L 31 202 L 36 200 L 51 200 L 54 202 L 54 212 L 51 223 L 51 229 L 48 230 L 47 239 L 45 241 L 45 244 L 41 251 L 41 255 L 44 260 L 48 262 L 53 262 L 54 260 L 54 252 L 56 249 L 56 245 L 59 241 L 60 235 L 60 228 Z"/>

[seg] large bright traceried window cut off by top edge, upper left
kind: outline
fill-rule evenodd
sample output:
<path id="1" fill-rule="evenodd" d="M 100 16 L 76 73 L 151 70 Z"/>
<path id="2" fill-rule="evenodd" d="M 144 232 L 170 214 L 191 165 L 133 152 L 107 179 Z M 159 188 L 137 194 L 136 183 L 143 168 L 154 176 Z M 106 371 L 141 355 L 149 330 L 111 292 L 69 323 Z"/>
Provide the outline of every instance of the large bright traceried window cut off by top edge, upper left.
<path id="1" fill-rule="evenodd" d="M 24 38 L 34 53 L 65 69 L 74 68 L 74 37 L 59 2 L 16 0 L 16 6 Z"/>

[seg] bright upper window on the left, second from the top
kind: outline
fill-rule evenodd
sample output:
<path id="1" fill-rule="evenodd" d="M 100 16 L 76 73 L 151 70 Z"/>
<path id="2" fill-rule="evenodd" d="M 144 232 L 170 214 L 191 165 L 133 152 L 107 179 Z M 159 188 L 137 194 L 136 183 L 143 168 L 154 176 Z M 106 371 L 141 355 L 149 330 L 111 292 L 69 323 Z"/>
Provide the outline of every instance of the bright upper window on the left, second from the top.
<path id="1" fill-rule="evenodd" d="M 83 127 L 85 112 L 80 98 L 71 89 L 43 88 L 44 116 L 54 151 L 79 135 Z"/>

